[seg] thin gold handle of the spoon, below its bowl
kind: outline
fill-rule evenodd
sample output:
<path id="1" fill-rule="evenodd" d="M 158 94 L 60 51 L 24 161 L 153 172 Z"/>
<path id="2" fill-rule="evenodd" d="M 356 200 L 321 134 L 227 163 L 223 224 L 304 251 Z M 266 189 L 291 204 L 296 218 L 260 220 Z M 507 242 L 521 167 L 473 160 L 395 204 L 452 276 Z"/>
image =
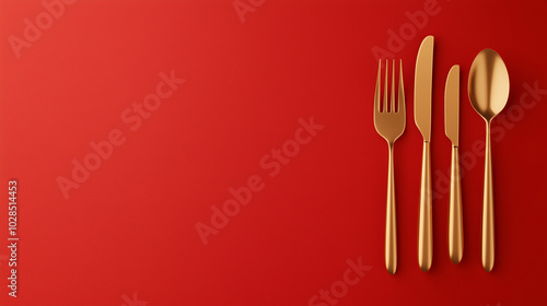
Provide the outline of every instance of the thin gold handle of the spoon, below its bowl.
<path id="1" fill-rule="evenodd" d="M 490 148 L 490 122 L 486 126 L 485 193 L 482 202 L 482 267 L 487 272 L 493 268 L 493 192 L 492 158 Z"/>

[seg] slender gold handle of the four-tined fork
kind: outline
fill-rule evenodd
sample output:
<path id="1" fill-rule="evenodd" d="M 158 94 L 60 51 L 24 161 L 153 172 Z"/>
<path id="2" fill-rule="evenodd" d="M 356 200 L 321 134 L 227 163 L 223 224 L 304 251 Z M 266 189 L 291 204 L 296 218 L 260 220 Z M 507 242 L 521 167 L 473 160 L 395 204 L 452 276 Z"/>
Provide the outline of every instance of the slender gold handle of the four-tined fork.
<path id="1" fill-rule="evenodd" d="M 387 204 L 385 216 L 385 268 L 389 274 L 397 270 L 397 219 L 395 214 L 395 179 L 393 170 L 393 143 L 389 145 L 387 172 Z"/>

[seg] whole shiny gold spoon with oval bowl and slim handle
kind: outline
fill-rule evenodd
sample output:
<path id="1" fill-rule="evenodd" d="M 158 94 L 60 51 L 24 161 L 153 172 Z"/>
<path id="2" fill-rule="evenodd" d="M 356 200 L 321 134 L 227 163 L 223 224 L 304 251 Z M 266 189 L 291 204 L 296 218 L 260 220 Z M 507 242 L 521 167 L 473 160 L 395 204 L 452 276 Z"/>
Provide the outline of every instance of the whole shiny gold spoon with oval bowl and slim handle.
<path id="1" fill-rule="evenodd" d="M 482 267 L 493 268 L 493 195 L 490 157 L 490 122 L 505 107 L 509 97 L 509 73 L 501 57 L 484 49 L 473 61 L 467 86 L 473 108 L 486 121 L 485 193 L 482 198 Z"/>

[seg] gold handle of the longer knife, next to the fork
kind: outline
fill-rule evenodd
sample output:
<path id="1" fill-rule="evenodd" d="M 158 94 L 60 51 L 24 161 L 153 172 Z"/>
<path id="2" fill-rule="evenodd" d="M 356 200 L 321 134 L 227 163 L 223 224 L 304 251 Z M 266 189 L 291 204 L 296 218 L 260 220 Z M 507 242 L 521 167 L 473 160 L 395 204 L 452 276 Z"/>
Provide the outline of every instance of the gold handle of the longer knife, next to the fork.
<path id="1" fill-rule="evenodd" d="M 418 264 L 422 271 L 431 268 L 433 232 L 431 220 L 431 160 L 430 143 L 423 141 L 421 160 L 420 219 L 418 224 Z"/>

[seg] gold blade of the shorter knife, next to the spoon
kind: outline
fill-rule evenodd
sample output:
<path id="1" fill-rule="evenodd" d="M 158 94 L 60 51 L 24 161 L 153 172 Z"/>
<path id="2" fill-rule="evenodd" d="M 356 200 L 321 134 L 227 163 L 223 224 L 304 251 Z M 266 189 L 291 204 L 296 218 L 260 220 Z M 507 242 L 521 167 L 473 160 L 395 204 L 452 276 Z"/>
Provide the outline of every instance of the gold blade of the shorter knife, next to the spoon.
<path id="1" fill-rule="evenodd" d="M 452 145 L 459 144 L 459 66 L 454 64 L 444 90 L 444 132 Z"/>

